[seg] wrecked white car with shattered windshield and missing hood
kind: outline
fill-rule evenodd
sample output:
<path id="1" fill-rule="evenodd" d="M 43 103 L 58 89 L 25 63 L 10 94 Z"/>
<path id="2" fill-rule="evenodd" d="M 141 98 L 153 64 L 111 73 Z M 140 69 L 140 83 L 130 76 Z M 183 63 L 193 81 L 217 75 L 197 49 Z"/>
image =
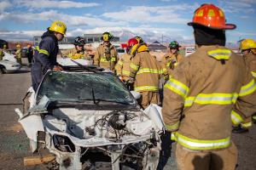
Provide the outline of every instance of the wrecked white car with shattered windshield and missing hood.
<path id="1" fill-rule="evenodd" d="M 156 169 L 160 107 L 143 111 L 111 71 L 49 71 L 32 98 L 19 122 L 32 152 L 53 154 L 52 169 Z"/>

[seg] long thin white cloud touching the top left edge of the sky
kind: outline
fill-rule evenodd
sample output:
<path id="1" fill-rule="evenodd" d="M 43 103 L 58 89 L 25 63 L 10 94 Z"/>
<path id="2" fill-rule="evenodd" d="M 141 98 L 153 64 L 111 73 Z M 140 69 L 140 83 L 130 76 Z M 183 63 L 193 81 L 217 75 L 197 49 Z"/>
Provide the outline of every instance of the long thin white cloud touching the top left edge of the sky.
<path id="1" fill-rule="evenodd" d="M 79 3 L 73 1 L 55 1 L 55 0 L 18 0 L 17 5 L 27 8 L 88 8 L 99 6 L 99 3 Z"/>

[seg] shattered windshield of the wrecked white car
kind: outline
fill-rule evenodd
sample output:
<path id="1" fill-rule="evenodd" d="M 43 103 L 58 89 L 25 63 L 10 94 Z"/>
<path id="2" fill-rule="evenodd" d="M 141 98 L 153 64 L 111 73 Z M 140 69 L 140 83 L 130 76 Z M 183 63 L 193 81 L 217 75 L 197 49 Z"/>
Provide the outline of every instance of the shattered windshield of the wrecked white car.
<path id="1" fill-rule="evenodd" d="M 39 99 L 44 95 L 60 101 L 134 104 L 130 92 L 109 72 L 49 72 L 38 90 Z"/>

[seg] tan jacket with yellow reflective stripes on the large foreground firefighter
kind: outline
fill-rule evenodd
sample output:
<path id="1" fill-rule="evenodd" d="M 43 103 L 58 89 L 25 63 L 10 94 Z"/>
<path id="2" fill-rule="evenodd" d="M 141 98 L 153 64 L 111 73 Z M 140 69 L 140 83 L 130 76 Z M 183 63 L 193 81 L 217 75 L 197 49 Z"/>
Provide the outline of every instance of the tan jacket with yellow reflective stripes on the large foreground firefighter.
<path id="1" fill-rule="evenodd" d="M 256 84 L 244 59 L 230 49 L 201 46 L 183 59 L 164 88 L 166 129 L 191 150 L 230 145 L 231 123 L 256 110 Z"/>

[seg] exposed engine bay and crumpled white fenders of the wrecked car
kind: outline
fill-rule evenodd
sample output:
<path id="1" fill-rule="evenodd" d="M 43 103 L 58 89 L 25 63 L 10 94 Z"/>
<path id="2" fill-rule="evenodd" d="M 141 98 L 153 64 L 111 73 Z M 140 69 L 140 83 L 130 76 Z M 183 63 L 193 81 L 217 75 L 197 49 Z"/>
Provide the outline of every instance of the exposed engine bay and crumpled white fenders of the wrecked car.
<path id="1" fill-rule="evenodd" d="M 68 107 L 49 111 L 50 103 L 44 96 L 26 115 L 20 116 L 19 122 L 29 139 L 37 141 L 38 131 L 45 131 L 51 135 L 66 136 L 74 144 L 84 144 L 84 147 L 128 144 L 150 139 L 153 133 L 161 133 L 164 128 L 158 105 L 149 105 L 145 111 L 97 111 Z M 31 128 L 32 124 L 34 128 Z M 116 132 L 122 133 L 121 138 L 116 139 Z"/>

